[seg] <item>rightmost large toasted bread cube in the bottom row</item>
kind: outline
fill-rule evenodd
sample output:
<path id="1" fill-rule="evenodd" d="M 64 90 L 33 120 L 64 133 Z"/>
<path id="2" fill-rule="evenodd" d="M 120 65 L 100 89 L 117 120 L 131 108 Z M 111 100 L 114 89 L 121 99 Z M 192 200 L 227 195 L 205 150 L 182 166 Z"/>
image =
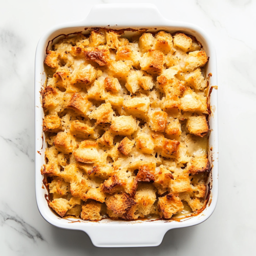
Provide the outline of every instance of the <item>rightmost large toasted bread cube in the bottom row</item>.
<path id="1" fill-rule="evenodd" d="M 168 194 L 158 199 L 159 215 L 163 219 L 170 219 L 174 214 L 183 210 L 183 204 L 175 194 Z"/>

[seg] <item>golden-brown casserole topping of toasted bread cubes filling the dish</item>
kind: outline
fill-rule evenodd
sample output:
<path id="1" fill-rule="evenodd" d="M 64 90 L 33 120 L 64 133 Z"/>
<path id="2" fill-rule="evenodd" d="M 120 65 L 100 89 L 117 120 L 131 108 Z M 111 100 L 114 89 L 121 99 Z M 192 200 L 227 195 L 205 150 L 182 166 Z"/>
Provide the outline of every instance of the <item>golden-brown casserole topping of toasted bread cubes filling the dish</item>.
<path id="1" fill-rule="evenodd" d="M 210 172 L 207 61 L 183 33 L 60 39 L 44 62 L 49 206 L 87 221 L 200 210 Z"/>

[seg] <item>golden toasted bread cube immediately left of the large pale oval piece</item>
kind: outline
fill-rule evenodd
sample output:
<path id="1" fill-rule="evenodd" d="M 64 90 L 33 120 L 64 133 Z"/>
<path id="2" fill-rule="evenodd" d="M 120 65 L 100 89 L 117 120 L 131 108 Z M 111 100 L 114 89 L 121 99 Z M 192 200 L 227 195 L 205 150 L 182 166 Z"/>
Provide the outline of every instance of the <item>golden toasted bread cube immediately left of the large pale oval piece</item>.
<path id="1" fill-rule="evenodd" d="M 54 145 L 58 151 L 64 154 L 69 154 L 73 152 L 76 147 L 76 141 L 70 133 L 60 132 L 54 140 Z"/>

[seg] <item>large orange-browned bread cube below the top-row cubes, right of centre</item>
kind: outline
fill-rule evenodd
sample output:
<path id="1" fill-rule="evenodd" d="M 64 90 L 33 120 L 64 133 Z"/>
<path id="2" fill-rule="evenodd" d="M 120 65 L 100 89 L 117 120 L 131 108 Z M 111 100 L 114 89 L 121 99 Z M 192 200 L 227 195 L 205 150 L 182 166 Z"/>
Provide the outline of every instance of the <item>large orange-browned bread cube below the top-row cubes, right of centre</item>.
<path id="1" fill-rule="evenodd" d="M 163 70 L 164 64 L 164 54 L 157 50 L 149 50 L 147 53 L 144 53 L 141 61 L 140 67 L 141 70 L 145 70 L 148 73 L 161 73 Z"/>

